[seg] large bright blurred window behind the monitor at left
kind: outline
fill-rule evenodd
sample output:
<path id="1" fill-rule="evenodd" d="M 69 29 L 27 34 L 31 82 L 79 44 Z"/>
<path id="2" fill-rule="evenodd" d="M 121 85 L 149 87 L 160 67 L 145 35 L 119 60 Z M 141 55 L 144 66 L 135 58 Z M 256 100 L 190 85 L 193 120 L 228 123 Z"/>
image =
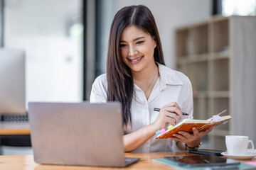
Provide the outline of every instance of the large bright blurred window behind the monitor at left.
<path id="1" fill-rule="evenodd" d="M 4 47 L 26 51 L 26 101 L 82 101 L 82 0 L 5 1 Z"/>

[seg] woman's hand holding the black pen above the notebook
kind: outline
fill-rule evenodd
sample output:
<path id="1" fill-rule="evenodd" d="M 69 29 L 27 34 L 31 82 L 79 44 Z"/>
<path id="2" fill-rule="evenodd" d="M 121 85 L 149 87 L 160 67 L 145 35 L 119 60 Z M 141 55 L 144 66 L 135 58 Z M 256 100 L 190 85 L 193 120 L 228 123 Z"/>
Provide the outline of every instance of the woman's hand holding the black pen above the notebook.
<path id="1" fill-rule="evenodd" d="M 163 129 L 171 123 L 171 125 L 176 125 L 178 123 L 178 116 L 183 118 L 181 108 L 176 102 L 172 102 L 163 106 L 154 121 L 157 129 Z"/>

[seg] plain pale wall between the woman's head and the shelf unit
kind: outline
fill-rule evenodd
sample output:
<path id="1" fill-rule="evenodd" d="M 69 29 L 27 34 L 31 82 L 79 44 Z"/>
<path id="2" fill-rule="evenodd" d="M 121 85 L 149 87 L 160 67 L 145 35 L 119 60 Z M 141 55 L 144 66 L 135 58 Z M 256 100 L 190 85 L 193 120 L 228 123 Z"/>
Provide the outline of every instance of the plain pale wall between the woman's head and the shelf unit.
<path id="1" fill-rule="evenodd" d="M 166 65 L 174 68 L 174 30 L 177 27 L 204 21 L 211 17 L 211 0 L 116 0 L 116 13 L 129 5 L 143 4 L 154 15 Z"/>

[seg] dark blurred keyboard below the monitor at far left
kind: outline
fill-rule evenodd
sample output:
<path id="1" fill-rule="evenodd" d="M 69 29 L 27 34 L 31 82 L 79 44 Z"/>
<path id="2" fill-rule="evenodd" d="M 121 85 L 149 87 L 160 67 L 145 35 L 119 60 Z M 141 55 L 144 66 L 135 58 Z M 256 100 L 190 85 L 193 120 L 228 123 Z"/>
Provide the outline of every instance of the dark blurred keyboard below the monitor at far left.
<path id="1" fill-rule="evenodd" d="M 0 115 L 1 122 L 8 122 L 8 123 L 26 123 L 28 122 L 28 113 L 21 115 L 21 114 L 3 114 Z"/>

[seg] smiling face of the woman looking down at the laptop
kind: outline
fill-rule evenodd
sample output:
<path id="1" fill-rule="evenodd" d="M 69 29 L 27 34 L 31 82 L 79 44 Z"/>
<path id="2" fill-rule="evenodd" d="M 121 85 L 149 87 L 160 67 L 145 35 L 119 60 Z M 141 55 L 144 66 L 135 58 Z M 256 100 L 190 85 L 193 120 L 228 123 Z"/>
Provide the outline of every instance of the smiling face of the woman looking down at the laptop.
<path id="1" fill-rule="evenodd" d="M 122 60 L 131 69 L 139 72 L 154 66 L 154 48 L 156 42 L 151 35 L 136 26 L 128 26 L 120 38 Z"/>

